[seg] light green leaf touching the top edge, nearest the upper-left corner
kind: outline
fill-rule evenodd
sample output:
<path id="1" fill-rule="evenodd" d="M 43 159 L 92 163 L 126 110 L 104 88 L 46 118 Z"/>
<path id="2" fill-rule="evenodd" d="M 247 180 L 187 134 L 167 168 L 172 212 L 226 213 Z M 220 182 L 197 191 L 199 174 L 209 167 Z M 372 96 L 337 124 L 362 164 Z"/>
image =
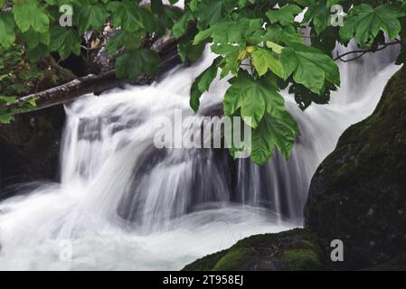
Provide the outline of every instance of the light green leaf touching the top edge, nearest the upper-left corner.
<path id="1" fill-rule="evenodd" d="M 37 0 L 22 0 L 13 7 L 15 23 L 24 33 L 33 27 L 38 33 L 46 33 L 49 29 L 50 19 Z"/>

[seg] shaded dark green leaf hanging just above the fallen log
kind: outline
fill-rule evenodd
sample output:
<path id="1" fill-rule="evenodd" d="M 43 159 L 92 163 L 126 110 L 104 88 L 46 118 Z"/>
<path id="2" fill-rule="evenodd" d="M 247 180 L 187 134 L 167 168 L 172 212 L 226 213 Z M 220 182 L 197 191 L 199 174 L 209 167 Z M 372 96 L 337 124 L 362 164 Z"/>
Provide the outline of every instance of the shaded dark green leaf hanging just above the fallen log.
<path id="1" fill-rule="evenodd" d="M 127 51 L 116 61 L 116 74 L 118 78 L 130 79 L 137 79 L 143 73 L 154 77 L 160 62 L 161 59 L 154 51 L 147 49 Z"/>

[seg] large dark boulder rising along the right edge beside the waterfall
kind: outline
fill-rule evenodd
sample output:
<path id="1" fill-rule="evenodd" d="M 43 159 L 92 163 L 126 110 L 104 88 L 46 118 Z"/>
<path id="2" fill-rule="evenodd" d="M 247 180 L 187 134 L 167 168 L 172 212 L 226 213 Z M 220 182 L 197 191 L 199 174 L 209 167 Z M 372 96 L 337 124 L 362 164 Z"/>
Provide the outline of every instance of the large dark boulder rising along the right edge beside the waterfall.
<path id="1" fill-rule="evenodd" d="M 344 242 L 337 268 L 376 266 L 406 252 L 406 70 L 393 75 L 373 115 L 348 128 L 314 175 L 306 227 Z"/>

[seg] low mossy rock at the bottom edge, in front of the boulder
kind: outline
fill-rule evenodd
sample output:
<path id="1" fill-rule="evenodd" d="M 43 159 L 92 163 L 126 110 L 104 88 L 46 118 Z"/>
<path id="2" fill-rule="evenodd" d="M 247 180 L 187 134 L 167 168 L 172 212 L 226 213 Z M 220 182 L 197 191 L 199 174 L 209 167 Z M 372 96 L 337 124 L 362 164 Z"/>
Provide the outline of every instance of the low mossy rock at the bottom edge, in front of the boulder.
<path id="1" fill-rule="evenodd" d="M 204 256 L 184 271 L 319 270 L 326 258 L 317 238 L 307 229 L 244 238 L 221 252 Z"/>

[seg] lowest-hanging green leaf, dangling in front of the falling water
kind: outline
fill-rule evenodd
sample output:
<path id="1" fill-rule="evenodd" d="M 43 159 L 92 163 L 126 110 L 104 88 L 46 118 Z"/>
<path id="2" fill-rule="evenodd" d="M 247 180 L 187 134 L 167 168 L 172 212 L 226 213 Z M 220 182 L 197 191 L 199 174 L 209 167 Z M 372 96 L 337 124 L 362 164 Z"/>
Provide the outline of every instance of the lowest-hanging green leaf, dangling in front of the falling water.
<path id="1" fill-rule="evenodd" d="M 288 112 L 284 111 L 279 117 L 266 113 L 259 126 L 252 131 L 251 160 L 258 164 L 267 163 L 274 153 L 275 145 L 288 159 L 297 134 L 297 123 Z"/>

